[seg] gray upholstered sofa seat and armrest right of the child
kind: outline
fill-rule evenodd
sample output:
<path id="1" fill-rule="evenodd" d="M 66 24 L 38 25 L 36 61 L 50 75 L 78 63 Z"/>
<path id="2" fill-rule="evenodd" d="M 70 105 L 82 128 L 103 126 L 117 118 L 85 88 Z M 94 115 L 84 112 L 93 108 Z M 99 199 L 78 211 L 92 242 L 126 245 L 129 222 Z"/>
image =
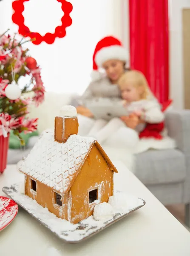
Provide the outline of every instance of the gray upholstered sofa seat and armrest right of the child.
<path id="1" fill-rule="evenodd" d="M 190 227 L 190 111 L 168 112 L 166 126 L 177 148 L 137 154 L 136 176 L 162 204 L 185 204 Z"/>

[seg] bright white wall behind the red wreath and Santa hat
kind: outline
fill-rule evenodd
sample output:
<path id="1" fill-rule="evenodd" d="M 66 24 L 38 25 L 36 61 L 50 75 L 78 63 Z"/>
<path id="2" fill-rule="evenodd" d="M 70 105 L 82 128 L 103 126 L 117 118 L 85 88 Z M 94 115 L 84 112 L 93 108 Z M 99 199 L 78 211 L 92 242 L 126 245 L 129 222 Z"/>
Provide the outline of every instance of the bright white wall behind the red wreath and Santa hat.
<path id="1" fill-rule="evenodd" d="M 26 44 L 30 54 L 42 68 L 42 79 L 47 91 L 82 93 L 91 81 L 92 56 L 96 43 L 104 36 L 114 35 L 122 39 L 122 2 L 123 0 L 69 0 L 73 4 L 71 17 L 73 23 L 66 29 L 65 38 L 57 38 L 52 45 Z M 39 3 L 38 3 L 39 2 Z M 45 10 L 51 12 L 51 19 L 38 17 L 36 8 L 43 0 L 30 0 L 25 3 L 23 15 L 26 25 L 34 31 L 47 32 L 54 18 L 57 20 L 55 0 L 46 0 Z M 17 31 L 12 23 L 12 0 L 0 1 L 0 33 L 10 28 Z M 31 6 L 36 3 L 36 5 Z M 58 6 L 59 8 L 59 6 Z M 39 12 L 37 12 L 39 13 Z M 50 16 L 49 15 L 49 16 Z M 35 17 L 35 18 L 34 18 Z M 55 21 L 56 22 L 56 21 Z M 57 24 L 58 25 L 58 24 Z M 51 26 L 51 30 L 54 26 Z M 44 30 L 43 30 L 44 29 Z M 20 81 L 21 83 L 21 81 Z M 26 81 L 22 81 L 22 84 Z"/>

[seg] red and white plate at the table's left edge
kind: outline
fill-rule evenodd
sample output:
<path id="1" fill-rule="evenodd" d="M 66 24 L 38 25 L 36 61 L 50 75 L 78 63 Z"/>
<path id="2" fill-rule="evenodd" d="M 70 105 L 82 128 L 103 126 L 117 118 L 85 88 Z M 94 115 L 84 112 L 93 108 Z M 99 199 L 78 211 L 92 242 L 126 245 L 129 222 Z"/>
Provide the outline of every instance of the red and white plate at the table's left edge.
<path id="1" fill-rule="evenodd" d="M 7 227 L 16 217 L 18 205 L 10 198 L 0 196 L 0 231 Z"/>

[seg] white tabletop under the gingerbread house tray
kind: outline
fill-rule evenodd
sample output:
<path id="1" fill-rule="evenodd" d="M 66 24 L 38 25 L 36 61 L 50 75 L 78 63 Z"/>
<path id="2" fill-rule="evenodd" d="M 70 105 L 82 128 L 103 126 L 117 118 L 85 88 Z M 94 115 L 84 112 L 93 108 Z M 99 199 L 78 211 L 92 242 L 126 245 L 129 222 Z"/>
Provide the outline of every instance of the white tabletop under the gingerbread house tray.
<path id="1" fill-rule="evenodd" d="M 104 231 L 79 244 L 65 244 L 22 208 L 0 232 L 2 256 L 189 256 L 190 233 L 150 191 L 120 163 L 115 163 L 117 189 L 130 192 L 146 205 Z M 23 179 L 16 166 L 0 176 L 3 186 Z"/>

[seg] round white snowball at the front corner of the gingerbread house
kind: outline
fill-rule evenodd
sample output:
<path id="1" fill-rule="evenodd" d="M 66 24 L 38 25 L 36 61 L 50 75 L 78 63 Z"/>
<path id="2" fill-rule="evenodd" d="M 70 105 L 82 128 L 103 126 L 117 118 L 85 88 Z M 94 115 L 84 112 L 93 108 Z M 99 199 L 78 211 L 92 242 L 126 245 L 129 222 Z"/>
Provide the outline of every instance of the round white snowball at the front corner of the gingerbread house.
<path id="1" fill-rule="evenodd" d="M 96 221 L 108 221 L 113 218 L 113 208 L 108 203 L 97 204 L 94 207 L 94 219 Z"/>

